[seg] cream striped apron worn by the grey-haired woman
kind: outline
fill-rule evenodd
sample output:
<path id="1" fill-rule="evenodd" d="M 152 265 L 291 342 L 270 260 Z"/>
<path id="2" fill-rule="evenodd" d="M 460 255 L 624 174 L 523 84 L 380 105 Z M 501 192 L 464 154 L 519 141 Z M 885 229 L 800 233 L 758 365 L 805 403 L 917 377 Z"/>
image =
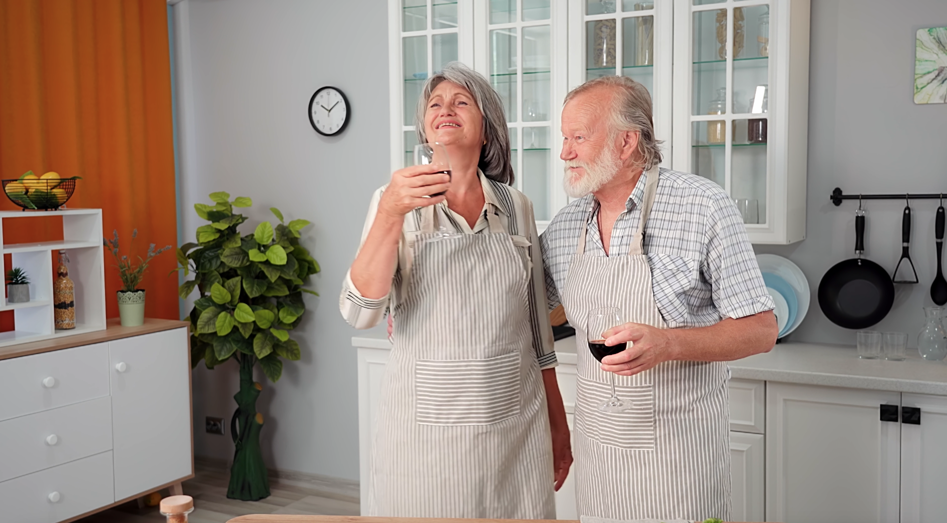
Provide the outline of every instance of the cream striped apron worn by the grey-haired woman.
<path id="1" fill-rule="evenodd" d="M 367 515 L 554 518 L 529 242 L 493 214 L 488 235 L 439 237 L 433 208 L 422 212 L 394 308 Z"/>

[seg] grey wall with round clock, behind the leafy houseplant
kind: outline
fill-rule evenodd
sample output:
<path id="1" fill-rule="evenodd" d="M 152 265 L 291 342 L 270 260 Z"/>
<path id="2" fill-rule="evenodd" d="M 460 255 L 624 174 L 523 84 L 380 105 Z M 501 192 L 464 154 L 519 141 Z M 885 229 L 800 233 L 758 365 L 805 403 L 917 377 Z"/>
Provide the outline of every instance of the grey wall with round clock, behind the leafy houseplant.
<path id="1" fill-rule="evenodd" d="M 337 296 L 371 192 L 389 177 L 386 3 L 184 0 L 173 9 L 186 237 L 205 223 L 193 204 L 217 190 L 253 198 L 245 231 L 274 219 L 271 206 L 313 221 L 303 244 L 322 266 L 313 278 L 322 297 L 306 296 L 307 319 L 293 334 L 303 358 L 286 362 L 275 385 L 259 379 L 267 463 L 357 479 L 355 331 Z M 307 116 L 324 85 L 352 106 L 337 137 L 317 134 Z M 204 419 L 229 428 L 236 377 L 234 362 L 194 372 L 198 456 L 232 459 L 229 435 L 205 434 Z"/>

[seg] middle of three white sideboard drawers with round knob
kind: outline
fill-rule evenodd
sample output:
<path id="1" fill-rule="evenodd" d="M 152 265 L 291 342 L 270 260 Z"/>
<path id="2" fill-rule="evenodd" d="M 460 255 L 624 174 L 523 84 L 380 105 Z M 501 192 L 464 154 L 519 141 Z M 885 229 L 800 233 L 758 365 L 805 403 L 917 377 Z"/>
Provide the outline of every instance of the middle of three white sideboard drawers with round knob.
<path id="1" fill-rule="evenodd" d="M 112 449 L 112 398 L 0 422 L 0 481 Z"/>

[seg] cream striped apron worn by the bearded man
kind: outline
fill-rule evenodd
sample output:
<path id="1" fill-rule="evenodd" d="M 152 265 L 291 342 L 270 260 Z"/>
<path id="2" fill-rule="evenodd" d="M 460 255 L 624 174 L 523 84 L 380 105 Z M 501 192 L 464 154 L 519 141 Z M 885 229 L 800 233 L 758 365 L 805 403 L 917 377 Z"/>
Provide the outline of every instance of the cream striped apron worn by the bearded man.
<path id="1" fill-rule="evenodd" d="M 611 397 L 611 388 L 608 374 L 589 352 L 588 311 L 617 306 L 625 322 L 667 328 L 654 303 L 644 253 L 657 166 L 647 176 L 630 253 L 586 254 L 583 224 L 562 295 L 566 317 L 576 328 L 579 356 L 573 443 L 576 506 L 581 515 L 609 519 L 728 520 L 726 363 L 666 361 L 637 375 L 616 375 L 618 397 L 632 400 L 634 409 L 597 409 Z"/>

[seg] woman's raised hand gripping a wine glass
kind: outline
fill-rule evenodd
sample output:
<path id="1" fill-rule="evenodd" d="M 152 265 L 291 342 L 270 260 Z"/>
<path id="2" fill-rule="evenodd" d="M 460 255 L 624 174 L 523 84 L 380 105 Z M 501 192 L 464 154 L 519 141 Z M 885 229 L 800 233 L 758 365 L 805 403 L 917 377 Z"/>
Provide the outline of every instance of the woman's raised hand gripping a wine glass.
<path id="1" fill-rule="evenodd" d="M 439 170 L 444 170 L 444 166 L 429 164 L 396 170 L 378 203 L 379 214 L 401 219 L 418 207 L 443 201 L 443 195 L 431 196 L 444 192 L 451 186 L 450 175 L 438 173 Z M 430 198 L 427 198 L 429 196 Z"/>

